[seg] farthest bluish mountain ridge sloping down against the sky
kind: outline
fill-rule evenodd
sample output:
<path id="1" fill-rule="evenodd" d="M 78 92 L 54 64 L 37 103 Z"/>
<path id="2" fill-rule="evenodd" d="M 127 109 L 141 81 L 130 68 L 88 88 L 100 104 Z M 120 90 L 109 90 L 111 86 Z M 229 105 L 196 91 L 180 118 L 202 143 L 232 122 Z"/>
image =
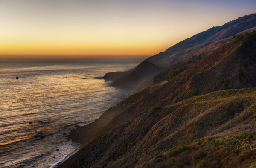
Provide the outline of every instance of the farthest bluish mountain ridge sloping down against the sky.
<path id="1" fill-rule="evenodd" d="M 191 55 L 196 49 L 207 46 L 215 41 L 228 38 L 253 27 L 256 27 L 256 14 L 239 17 L 238 19 L 225 23 L 222 26 L 212 27 L 207 31 L 198 33 L 191 38 L 187 38 L 186 40 L 170 47 L 165 52 L 154 55 L 145 61 L 161 67 L 166 67 L 169 64 L 173 64 L 176 61 Z"/>

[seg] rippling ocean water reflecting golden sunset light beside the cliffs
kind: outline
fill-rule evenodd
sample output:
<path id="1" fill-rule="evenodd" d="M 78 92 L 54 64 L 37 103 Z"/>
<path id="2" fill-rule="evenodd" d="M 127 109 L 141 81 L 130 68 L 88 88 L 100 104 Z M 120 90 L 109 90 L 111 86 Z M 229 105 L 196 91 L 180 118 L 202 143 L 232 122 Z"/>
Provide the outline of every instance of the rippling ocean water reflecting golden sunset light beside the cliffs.
<path id="1" fill-rule="evenodd" d="M 55 167 L 75 153 L 65 135 L 132 92 L 99 77 L 143 59 L 0 60 L 0 167 Z"/>

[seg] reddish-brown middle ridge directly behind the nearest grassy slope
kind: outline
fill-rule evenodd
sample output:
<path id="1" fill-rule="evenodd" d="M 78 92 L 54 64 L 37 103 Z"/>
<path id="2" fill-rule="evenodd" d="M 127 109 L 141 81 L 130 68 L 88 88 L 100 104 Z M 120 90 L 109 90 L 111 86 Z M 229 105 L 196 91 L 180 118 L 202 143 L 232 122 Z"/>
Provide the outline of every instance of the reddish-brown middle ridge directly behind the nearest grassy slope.
<path id="1" fill-rule="evenodd" d="M 255 31 L 252 34 L 255 35 Z M 149 107 L 166 106 L 217 90 L 256 87 L 256 41 L 246 38 L 247 35 L 236 36 L 168 82 L 137 93 L 143 96 L 111 119 L 97 135 L 102 136 L 113 127 L 140 116 Z"/>

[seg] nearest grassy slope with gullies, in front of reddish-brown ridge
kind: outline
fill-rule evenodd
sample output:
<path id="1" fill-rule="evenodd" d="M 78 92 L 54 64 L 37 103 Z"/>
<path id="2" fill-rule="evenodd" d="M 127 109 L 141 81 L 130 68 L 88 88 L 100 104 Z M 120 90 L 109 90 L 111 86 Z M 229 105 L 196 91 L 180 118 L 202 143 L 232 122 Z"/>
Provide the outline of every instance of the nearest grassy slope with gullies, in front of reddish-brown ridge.
<path id="1" fill-rule="evenodd" d="M 247 166 L 256 161 L 256 136 L 240 134 L 256 129 L 255 112 L 256 89 L 155 107 L 91 142 L 62 167 Z"/>

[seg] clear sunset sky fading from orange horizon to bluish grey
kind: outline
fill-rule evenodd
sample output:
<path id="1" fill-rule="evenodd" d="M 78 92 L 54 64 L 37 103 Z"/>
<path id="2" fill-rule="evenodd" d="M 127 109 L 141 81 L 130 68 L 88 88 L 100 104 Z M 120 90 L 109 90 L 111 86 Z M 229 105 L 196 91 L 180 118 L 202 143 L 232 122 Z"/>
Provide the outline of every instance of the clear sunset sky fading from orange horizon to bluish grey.
<path id="1" fill-rule="evenodd" d="M 256 0 L 0 0 L 0 56 L 155 55 Z"/>

